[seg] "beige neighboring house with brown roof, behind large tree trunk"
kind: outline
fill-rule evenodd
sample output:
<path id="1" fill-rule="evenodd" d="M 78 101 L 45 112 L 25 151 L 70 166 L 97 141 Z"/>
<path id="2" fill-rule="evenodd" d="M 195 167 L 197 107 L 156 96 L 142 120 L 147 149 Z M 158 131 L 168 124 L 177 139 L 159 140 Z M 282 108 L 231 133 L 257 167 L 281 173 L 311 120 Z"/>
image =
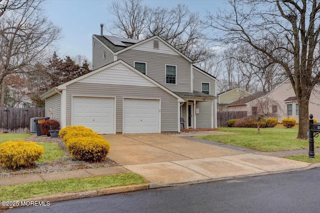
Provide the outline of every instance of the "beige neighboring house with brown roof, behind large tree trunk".
<path id="1" fill-rule="evenodd" d="M 320 121 L 320 86 L 315 86 L 309 99 L 309 114 Z M 284 81 L 270 92 L 254 93 L 228 105 L 228 111 L 247 111 L 247 115 L 264 113 L 276 114 L 279 123 L 284 118 L 299 121 L 299 107 L 289 80 Z"/>

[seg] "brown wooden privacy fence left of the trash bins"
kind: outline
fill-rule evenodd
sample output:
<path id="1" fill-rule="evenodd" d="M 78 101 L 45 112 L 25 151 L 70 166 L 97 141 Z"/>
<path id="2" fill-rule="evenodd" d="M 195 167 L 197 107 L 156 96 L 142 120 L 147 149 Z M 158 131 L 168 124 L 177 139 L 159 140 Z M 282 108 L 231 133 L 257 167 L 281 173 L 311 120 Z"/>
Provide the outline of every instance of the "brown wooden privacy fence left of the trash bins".
<path id="1" fill-rule="evenodd" d="M 28 133 L 35 117 L 44 117 L 44 108 L 0 108 L 0 133 Z"/>

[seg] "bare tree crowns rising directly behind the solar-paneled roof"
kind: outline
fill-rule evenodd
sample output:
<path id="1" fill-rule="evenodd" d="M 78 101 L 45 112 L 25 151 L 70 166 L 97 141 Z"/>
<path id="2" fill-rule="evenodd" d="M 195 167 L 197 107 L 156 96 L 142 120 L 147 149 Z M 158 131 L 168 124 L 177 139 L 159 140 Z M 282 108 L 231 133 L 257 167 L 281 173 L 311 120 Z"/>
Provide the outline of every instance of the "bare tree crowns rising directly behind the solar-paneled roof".
<path id="1" fill-rule="evenodd" d="M 195 62 L 212 56 L 199 14 L 184 4 L 151 8 L 142 0 L 121 0 L 111 3 L 110 12 L 114 20 L 107 31 L 113 35 L 134 39 L 158 35 Z"/>

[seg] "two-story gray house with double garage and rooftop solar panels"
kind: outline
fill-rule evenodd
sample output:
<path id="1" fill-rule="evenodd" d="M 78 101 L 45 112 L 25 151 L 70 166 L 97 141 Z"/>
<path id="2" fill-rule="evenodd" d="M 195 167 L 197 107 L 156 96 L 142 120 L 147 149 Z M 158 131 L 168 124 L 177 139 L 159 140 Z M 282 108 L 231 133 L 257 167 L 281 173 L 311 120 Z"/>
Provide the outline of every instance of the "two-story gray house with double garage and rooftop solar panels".
<path id="1" fill-rule="evenodd" d="M 216 128 L 216 79 L 158 36 L 92 36 L 93 70 L 41 96 L 61 127 L 100 134 Z"/>

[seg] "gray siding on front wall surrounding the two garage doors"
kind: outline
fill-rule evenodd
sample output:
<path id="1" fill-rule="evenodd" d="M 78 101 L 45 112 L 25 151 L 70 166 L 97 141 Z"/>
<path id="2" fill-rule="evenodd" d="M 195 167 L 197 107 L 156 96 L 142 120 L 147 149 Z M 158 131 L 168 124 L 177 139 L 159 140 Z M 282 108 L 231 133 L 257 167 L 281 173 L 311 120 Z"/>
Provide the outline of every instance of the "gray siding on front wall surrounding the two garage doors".
<path id="1" fill-rule="evenodd" d="M 71 125 L 71 96 L 116 97 L 116 132 L 122 132 L 124 98 L 161 99 L 161 132 L 177 132 L 177 99 L 158 87 L 73 83 L 66 88 L 66 126 Z"/>

